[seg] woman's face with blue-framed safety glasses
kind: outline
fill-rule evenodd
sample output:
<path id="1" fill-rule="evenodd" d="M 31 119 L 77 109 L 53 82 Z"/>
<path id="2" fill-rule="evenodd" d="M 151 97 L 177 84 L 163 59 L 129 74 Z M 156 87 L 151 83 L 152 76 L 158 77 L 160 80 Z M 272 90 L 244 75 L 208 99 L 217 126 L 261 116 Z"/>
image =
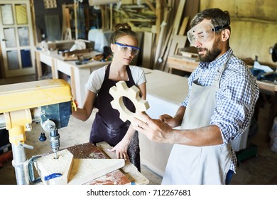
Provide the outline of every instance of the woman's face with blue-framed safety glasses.
<path id="1" fill-rule="evenodd" d="M 136 39 L 131 36 L 122 36 L 117 39 L 116 43 L 111 43 L 111 49 L 114 53 L 113 61 L 122 65 L 129 65 L 138 52 Z"/>

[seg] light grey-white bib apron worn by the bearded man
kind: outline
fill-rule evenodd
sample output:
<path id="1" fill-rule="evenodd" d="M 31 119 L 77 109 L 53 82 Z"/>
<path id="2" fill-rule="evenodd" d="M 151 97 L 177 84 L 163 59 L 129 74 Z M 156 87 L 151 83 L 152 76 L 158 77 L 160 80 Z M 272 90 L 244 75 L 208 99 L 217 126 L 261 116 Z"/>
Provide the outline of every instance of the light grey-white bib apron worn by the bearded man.
<path id="1" fill-rule="evenodd" d="M 210 125 L 216 106 L 216 92 L 226 63 L 219 68 L 211 86 L 197 85 L 197 80 L 192 83 L 181 129 L 195 129 Z M 231 157 L 230 144 L 202 147 L 174 144 L 162 184 L 225 184 Z"/>

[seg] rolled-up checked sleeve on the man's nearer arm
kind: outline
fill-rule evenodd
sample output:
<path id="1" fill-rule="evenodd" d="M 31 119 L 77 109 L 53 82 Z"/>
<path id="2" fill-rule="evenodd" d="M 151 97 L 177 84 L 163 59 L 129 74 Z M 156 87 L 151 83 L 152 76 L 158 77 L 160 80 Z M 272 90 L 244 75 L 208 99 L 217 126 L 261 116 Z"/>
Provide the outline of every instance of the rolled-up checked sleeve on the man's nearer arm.
<path id="1" fill-rule="evenodd" d="M 244 73 L 233 76 L 217 92 L 217 107 L 210 122 L 221 130 L 224 144 L 236 139 L 249 127 L 259 97 L 259 88 L 251 76 Z"/>

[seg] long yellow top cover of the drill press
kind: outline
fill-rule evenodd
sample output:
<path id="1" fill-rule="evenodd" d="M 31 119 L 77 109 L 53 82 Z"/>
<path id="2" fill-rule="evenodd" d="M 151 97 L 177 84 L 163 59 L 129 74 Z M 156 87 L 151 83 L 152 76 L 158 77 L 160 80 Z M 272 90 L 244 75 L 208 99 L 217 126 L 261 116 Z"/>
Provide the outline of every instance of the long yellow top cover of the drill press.
<path id="1" fill-rule="evenodd" d="M 70 102 L 70 85 L 61 79 L 0 86 L 0 113 Z"/>

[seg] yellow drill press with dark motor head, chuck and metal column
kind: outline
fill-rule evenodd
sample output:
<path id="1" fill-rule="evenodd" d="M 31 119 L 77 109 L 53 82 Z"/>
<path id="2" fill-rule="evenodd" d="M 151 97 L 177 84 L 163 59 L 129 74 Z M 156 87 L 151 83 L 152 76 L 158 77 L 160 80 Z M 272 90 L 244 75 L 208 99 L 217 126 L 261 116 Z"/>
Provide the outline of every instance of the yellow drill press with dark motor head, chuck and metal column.
<path id="1" fill-rule="evenodd" d="M 58 158 L 58 129 L 67 127 L 72 109 L 70 85 L 65 80 L 40 80 L 0 86 L 0 129 L 9 130 L 17 184 L 29 184 L 26 131 L 40 122 L 50 133 L 50 147 Z M 44 133 L 40 136 L 43 138 Z"/>

